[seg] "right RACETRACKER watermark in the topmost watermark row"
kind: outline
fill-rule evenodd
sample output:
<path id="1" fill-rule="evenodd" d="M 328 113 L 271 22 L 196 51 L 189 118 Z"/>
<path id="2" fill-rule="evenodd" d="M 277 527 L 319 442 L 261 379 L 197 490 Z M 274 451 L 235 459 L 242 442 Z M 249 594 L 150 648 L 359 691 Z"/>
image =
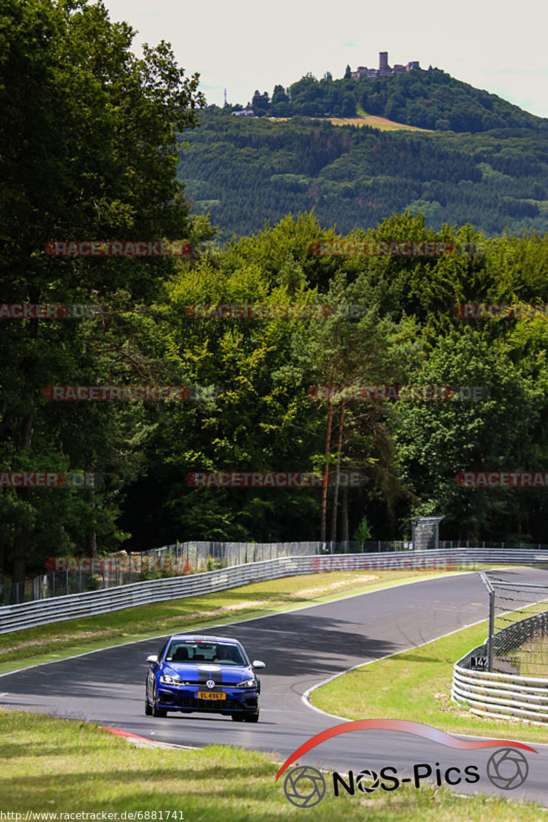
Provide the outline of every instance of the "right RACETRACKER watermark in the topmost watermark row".
<path id="1" fill-rule="evenodd" d="M 484 251 L 473 242 L 444 242 L 437 240 L 404 240 L 403 242 L 366 242 L 356 240 L 320 240 L 310 247 L 314 256 L 462 256 L 477 255 Z"/>

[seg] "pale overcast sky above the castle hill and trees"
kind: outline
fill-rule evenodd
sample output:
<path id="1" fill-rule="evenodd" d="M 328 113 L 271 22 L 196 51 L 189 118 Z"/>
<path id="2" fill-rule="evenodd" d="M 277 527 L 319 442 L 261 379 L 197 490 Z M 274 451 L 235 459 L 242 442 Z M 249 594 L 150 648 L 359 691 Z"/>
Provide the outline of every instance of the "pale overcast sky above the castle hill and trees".
<path id="1" fill-rule="evenodd" d="M 208 103 L 246 104 L 306 72 L 342 77 L 347 63 L 418 60 L 548 117 L 548 5 L 533 0 L 104 0 L 140 44 L 167 40 L 187 72 L 200 72 Z"/>

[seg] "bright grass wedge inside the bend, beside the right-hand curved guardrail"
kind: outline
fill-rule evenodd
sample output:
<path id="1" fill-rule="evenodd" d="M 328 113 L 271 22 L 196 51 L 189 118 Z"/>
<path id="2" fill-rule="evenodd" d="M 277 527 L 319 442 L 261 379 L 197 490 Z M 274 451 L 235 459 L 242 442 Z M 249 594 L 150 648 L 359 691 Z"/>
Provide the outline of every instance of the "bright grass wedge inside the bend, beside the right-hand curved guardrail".
<path id="1" fill-rule="evenodd" d="M 314 690 L 316 708 L 348 719 L 410 719 L 449 733 L 548 742 L 548 727 L 481 718 L 450 701 L 454 663 L 486 638 L 487 622 L 337 677 Z"/>

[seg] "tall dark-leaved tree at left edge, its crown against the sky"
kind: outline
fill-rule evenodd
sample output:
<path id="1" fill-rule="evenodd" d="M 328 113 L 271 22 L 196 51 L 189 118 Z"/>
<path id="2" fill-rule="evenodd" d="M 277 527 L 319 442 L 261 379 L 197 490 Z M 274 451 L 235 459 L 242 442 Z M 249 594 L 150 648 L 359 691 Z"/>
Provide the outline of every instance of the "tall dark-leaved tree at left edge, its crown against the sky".
<path id="1" fill-rule="evenodd" d="M 168 44 L 145 45 L 143 58 L 136 58 L 134 35 L 126 23 L 112 23 L 100 2 L 7 0 L 4 6 L 0 38 L 10 48 L 0 67 L 0 230 L 6 240 L 0 278 L 7 302 L 103 300 L 113 307 L 121 293 L 133 304 L 150 300 L 170 261 L 55 259 L 46 243 L 180 239 L 190 230 L 176 181 L 177 132 L 196 125 L 205 98 L 198 75 L 184 76 Z M 31 319 L 0 329 L 2 349 L 11 355 L 4 382 L 21 386 L 2 395 L 2 461 L 14 469 L 81 468 L 79 452 L 94 461 L 104 441 L 116 437 L 112 427 L 84 424 L 68 459 L 66 429 L 44 400 L 44 386 L 67 384 L 76 374 L 85 381 L 81 367 L 93 370 L 85 354 L 87 326 L 76 335 L 69 326 Z M 125 356 L 123 345 L 118 356 Z M 85 404 L 79 411 L 86 422 L 93 418 Z M 19 512 L 4 551 L 12 553 L 13 580 L 21 583 L 46 496 L 25 488 L 15 498 L 2 494 L 12 500 L 12 513 Z M 74 510 L 59 506 L 56 524 L 74 522 Z M 92 509 L 90 501 L 90 527 L 93 518 L 97 524 Z M 57 539 L 52 531 L 50 546 Z"/>

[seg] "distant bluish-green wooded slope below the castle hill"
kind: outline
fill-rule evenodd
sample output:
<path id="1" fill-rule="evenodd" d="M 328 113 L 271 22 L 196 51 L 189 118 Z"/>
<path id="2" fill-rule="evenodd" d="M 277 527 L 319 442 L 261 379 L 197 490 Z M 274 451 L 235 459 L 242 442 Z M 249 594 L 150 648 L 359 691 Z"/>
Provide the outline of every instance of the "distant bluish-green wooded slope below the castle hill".
<path id="1" fill-rule="evenodd" d="M 546 230 L 548 132 L 385 132 L 219 110 L 199 119 L 177 173 L 219 242 L 312 209 L 323 228 L 345 233 L 406 209 L 435 229 L 447 222 L 491 235 Z"/>

